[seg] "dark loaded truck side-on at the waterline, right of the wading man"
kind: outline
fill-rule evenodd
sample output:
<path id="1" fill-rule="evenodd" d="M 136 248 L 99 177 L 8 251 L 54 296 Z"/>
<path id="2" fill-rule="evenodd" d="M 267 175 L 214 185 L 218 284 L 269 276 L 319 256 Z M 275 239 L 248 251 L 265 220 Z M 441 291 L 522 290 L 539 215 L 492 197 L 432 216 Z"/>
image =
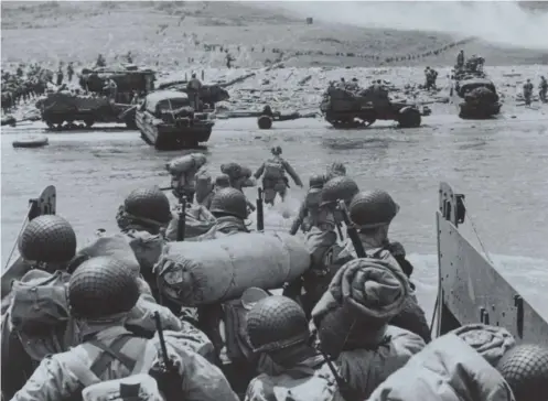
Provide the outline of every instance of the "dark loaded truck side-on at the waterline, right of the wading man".
<path id="1" fill-rule="evenodd" d="M 323 95 L 320 110 L 334 128 L 368 127 L 376 120 L 395 120 L 401 128 L 417 128 L 421 123 L 416 105 L 391 101 L 387 91 L 374 88 L 352 91 L 332 85 Z"/>

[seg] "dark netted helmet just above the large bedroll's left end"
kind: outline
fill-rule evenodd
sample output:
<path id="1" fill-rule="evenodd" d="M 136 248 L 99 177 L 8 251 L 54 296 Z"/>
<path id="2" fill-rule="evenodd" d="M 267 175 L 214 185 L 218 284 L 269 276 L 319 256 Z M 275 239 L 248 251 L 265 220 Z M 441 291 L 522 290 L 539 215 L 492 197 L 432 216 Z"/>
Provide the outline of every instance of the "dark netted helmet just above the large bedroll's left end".
<path id="1" fill-rule="evenodd" d="M 171 207 L 168 196 L 159 187 L 132 191 L 123 202 L 125 212 L 138 219 L 166 225 L 171 221 Z"/>

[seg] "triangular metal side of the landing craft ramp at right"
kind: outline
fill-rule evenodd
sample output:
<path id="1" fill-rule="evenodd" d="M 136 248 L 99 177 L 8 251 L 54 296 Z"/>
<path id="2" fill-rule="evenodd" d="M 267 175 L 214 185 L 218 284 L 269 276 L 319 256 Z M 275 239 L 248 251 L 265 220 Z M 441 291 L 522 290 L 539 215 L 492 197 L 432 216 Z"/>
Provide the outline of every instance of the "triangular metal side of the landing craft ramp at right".
<path id="1" fill-rule="evenodd" d="M 464 223 L 463 195 L 441 183 L 439 196 L 436 334 L 443 335 L 464 324 L 484 323 L 505 327 L 518 343 L 548 346 L 548 305 L 520 293 L 462 236 L 458 227 Z"/>

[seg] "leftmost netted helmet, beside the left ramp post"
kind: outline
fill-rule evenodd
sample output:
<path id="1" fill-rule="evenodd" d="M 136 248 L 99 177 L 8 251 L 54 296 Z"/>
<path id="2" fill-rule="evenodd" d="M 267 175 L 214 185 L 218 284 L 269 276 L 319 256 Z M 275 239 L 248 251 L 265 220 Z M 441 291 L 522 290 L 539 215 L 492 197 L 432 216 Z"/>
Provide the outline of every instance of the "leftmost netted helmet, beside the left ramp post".
<path id="1" fill-rule="evenodd" d="M 26 225 L 18 245 L 25 260 L 64 263 L 76 254 L 76 234 L 63 217 L 43 215 Z"/>

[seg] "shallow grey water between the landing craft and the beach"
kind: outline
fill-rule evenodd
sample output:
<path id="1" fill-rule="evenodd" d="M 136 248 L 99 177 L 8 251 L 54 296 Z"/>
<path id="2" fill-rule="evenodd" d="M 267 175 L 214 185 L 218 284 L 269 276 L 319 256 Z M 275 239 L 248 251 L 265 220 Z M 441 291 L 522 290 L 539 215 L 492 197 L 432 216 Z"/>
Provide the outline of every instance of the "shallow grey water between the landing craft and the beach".
<path id="1" fill-rule="evenodd" d="M 377 122 L 367 130 L 334 130 L 320 120 L 280 122 L 259 131 L 254 119 L 219 120 L 202 151 L 213 174 L 237 161 L 257 169 L 272 145 L 303 182 L 333 161 L 347 165 L 362 188 L 384 188 L 401 206 L 390 238 L 401 241 L 416 263 L 419 297 L 431 304 L 436 291 L 434 212 L 438 185 L 447 181 L 466 195 L 468 238 L 475 234 L 495 261 L 526 277 L 548 282 L 548 121 L 526 117 L 462 121 L 432 116 L 426 127 L 399 130 Z M 47 134 L 43 149 L 13 149 L 25 134 Z M 46 185 L 57 188 L 57 213 L 74 225 L 80 245 L 97 228 L 117 229 L 115 215 L 123 197 L 143 185 L 168 185 L 166 161 L 182 152 L 158 152 L 135 131 L 103 128 L 50 133 L 41 123 L 2 129 L 2 265 L 19 232 L 28 199 Z M 247 192 L 255 198 L 255 191 Z M 304 189 L 290 189 L 284 205 L 267 212 L 267 225 L 289 227 Z M 514 258 L 508 258 L 513 256 Z M 546 272 L 546 273 L 545 273 Z M 529 275 L 529 279 L 533 275 Z M 518 280 L 518 279 L 516 279 Z M 527 280 L 529 281 L 529 280 Z M 430 308 L 430 306 L 427 306 Z"/>

